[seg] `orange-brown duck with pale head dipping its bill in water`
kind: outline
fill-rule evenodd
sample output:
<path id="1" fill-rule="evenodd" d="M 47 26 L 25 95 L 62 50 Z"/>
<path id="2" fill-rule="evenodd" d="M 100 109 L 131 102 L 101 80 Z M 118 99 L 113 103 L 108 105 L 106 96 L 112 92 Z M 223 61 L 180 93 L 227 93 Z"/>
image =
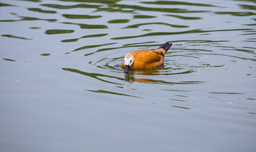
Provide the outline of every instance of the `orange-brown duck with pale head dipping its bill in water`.
<path id="1" fill-rule="evenodd" d="M 164 64 L 164 54 L 173 45 L 166 42 L 158 49 L 139 49 L 137 51 L 126 54 L 122 62 L 124 73 L 129 73 L 132 70 L 150 69 Z"/>

